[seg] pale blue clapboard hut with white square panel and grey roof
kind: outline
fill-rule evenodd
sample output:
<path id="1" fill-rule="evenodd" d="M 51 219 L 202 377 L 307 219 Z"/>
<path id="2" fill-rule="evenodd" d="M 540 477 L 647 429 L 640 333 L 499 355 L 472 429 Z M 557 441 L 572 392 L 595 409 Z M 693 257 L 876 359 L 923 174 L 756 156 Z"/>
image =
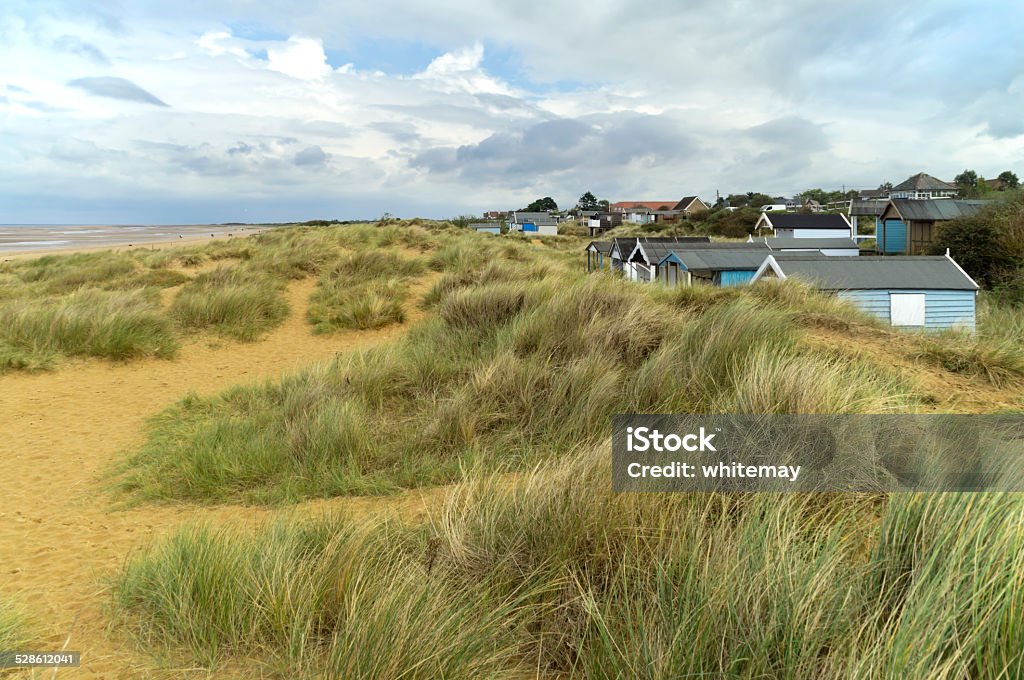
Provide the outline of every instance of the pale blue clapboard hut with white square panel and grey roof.
<path id="1" fill-rule="evenodd" d="M 752 283 L 797 279 L 890 326 L 975 330 L 978 284 L 949 256 L 826 257 L 771 253 Z"/>

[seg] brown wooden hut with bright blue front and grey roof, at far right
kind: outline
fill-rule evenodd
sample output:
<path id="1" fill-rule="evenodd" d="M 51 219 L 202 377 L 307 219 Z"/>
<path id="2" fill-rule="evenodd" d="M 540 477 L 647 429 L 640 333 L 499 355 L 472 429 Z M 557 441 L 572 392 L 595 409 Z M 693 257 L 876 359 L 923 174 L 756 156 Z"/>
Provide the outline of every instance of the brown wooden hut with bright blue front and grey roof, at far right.
<path id="1" fill-rule="evenodd" d="M 989 201 L 891 199 L 879 216 L 877 249 L 885 255 L 921 255 L 935 240 L 936 226 L 975 214 Z"/>

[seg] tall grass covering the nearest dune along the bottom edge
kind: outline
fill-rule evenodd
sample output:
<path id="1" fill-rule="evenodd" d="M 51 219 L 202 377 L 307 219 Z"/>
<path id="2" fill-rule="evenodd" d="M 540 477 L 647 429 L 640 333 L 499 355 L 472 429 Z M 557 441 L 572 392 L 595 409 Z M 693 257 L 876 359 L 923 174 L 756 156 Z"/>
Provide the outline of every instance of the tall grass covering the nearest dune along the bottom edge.
<path id="1" fill-rule="evenodd" d="M 471 481 L 422 526 L 188 528 L 126 565 L 120 611 L 289 677 L 1024 673 L 1016 496 L 614 495 L 608 461 Z"/>

